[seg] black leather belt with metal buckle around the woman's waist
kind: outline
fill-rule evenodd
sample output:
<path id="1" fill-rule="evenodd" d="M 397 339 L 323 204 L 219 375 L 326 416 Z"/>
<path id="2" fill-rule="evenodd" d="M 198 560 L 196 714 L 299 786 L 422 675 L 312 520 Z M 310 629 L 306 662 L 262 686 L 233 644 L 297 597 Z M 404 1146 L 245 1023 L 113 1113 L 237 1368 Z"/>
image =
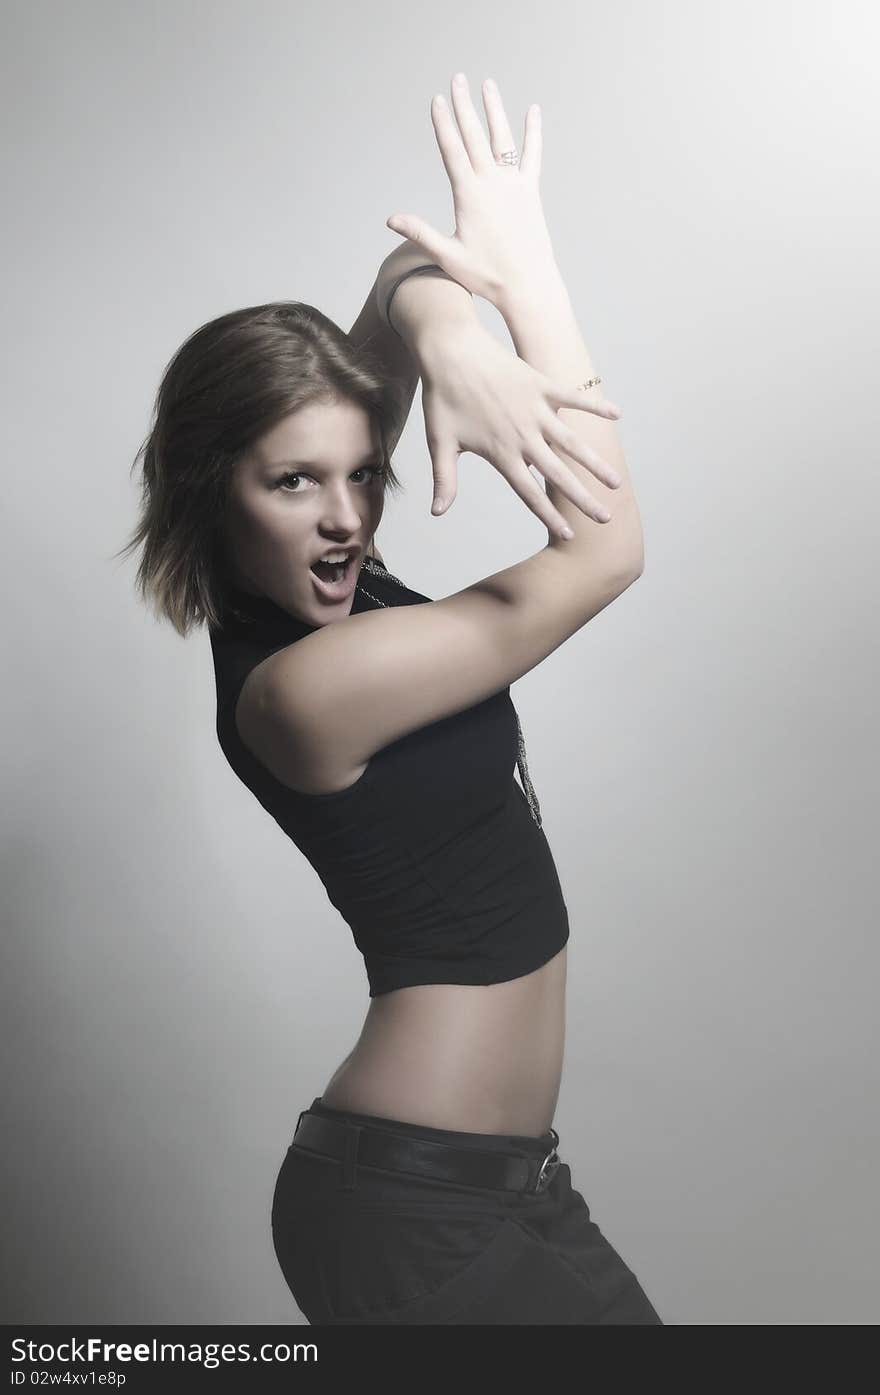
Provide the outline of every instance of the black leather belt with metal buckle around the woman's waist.
<path id="1" fill-rule="evenodd" d="M 365 1168 L 411 1172 L 439 1182 L 462 1182 L 471 1187 L 543 1191 L 561 1162 L 556 1152 L 559 1134 L 555 1129 L 549 1133 L 554 1137 L 549 1152 L 544 1158 L 529 1158 L 481 1148 L 455 1148 L 368 1124 L 325 1119 L 304 1109 L 293 1136 L 293 1147 L 325 1158 L 339 1158 L 349 1168 L 360 1163 Z"/>

